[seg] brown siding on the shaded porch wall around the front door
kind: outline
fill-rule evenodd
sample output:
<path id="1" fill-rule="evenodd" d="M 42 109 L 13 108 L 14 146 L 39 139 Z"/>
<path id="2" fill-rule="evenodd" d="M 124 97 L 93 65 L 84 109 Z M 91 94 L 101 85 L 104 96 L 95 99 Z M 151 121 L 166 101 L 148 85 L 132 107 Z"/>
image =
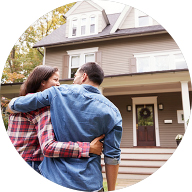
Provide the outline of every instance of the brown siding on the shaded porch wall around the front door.
<path id="1" fill-rule="evenodd" d="M 133 146 L 133 114 L 126 111 L 126 105 L 132 104 L 131 97 L 157 96 L 157 102 L 163 103 L 164 110 L 158 111 L 160 146 L 176 147 L 175 137 L 184 134 L 184 125 L 177 123 L 177 110 L 182 110 L 181 93 L 158 93 L 146 95 L 108 96 L 120 110 L 123 118 L 123 136 L 121 147 Z M 171 119 L 172 124 L 164 124 L 164 120 Z"/>

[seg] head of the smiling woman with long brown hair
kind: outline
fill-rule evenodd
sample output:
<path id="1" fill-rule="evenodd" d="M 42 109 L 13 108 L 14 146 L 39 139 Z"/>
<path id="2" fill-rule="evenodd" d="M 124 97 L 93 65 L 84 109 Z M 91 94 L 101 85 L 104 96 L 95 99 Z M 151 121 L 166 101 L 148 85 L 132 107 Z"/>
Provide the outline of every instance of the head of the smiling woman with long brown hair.
<path id="1" fill-rule="evenodd" d="M 40 65 L 33 69 L 27 80 L 20 88 L 20 96 L 28 93 L 43 91 L 51 86 L 59 86 L 59 72 L 57 68 Z"/>

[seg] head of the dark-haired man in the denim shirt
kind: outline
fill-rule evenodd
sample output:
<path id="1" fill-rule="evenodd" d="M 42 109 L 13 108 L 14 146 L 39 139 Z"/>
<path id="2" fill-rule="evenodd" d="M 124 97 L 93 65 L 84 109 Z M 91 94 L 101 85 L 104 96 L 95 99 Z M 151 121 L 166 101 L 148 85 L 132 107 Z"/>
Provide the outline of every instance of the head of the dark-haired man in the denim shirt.
<path id="1" fill-rule="evenodd" d="M 99 86 L 103 79 L 104 72 L 102 68 L 95 62 L 88 62 L 77 70 L 73 83 Z"/>

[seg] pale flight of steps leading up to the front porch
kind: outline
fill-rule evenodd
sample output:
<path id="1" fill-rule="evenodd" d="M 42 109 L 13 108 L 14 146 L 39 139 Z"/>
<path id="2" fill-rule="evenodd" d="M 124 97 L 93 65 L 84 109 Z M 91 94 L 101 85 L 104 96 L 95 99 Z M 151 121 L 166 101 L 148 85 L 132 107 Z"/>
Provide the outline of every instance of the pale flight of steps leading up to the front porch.
<path id="1" fill-rule="evenodd" d="M 174 153 L 175 148 L 122 148 L 119 179 L 145 179 L 157 171 Z M 101 165 L 104 165 L 102 156 Z M 105 166 L 102 166 L 103 177 Z"/>

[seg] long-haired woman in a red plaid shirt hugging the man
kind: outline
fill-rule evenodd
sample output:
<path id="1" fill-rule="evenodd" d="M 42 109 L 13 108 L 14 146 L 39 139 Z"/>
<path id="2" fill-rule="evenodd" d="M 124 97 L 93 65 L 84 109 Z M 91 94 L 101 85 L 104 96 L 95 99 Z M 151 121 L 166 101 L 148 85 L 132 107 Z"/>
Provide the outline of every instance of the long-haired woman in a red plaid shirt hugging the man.
<path id="1" fill-rule="evenodd" d="M 36 67 L 22 84 L 20 96 L 43 91 L 51 86 L 59 86 L 57 68 Z M 89 142 L 56 141 L 51 124 L 50 107 L 28 113 L 14 113 L 9 116 L 8 135 L 18 153 L 37 172 L 46 157 L 89 157 L 89 153 L 101 154 L 104 136 Z"/>

